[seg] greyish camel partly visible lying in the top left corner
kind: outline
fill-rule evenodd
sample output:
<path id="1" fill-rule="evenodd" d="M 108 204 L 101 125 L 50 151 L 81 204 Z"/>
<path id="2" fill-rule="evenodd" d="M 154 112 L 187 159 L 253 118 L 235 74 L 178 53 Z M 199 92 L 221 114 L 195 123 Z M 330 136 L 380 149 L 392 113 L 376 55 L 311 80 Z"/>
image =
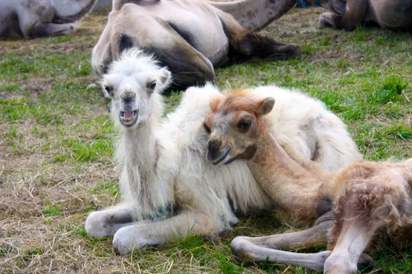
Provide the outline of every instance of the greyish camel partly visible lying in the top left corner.
<path id="1" fill-rule="evenodd" d="M 1 0 L 0 36 L 71 34 L 98 0 Z"/>

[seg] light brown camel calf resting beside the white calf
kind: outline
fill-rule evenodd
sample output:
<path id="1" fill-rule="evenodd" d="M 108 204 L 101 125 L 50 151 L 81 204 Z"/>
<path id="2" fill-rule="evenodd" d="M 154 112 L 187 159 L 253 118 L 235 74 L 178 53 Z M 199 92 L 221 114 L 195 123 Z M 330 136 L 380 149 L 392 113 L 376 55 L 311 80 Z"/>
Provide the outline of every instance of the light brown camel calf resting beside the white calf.
<path id="1" fill-rule="evenodd" d="M 212 113 L 205 120 L 211 131 L 208 160 L 213 164 L 248 160 L 256 181 L 279 208 L 300 219 L 313 219 L 325 199 L 330 199 L 336 207 L 334 218 L 326 215 L 317 227 L 304 232 L 238 237 L 231 249 L 246 261 L 268 259 L 316 270 L 324 262 L 325 273 L 356 273 L 356 264 L 371 262 L 362 253 L 375 234 L 412 228 L 412 159 L 382 164 L 361 162 L 339 171 L 323 171 L 314 162 L 290 157 L 268 130 L 276 123 L 266 118 L 274 104 L 273 97 L 256 98 L 247 91 L 212 99 Z M 332 253 L 299 257 L 275 250 L 322 244 L 323 234 L 328 235 Z M 407 242 L 411 238 L 400 240 Z"/>

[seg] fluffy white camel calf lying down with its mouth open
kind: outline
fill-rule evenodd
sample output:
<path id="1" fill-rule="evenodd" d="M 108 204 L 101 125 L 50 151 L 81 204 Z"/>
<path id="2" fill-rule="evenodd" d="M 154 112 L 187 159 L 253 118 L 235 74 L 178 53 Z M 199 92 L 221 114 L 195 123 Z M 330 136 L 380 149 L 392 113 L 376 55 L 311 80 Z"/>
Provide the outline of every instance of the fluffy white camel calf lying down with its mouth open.
<path id="1" fill-rule="evenodd" d="M 178 232 L 218 236 L 238 223 L 236 212 L 275 206 L 245 162 L 214 166 L 206 159 L 209 133 L 203 121 L 211 112 L 209 99 L 220 94 L 217 88 L 189 88 L 176 111 L 161 121 L 159 93 L 169 79 L 167 69 L 132 49 L 102 80 L 122 133 L 116 154 L 123 201 L 92 212 L 85 228 L 95 237 L 114 234 L 116 253 L 164 245 Z M 321 102 L 275 86 L 254 92 L 273 95 L 283 105 L 271 116 L 277 121 L 271 131 L 290 154 L 330 171 L 361 159 L 345 125 Z"/>

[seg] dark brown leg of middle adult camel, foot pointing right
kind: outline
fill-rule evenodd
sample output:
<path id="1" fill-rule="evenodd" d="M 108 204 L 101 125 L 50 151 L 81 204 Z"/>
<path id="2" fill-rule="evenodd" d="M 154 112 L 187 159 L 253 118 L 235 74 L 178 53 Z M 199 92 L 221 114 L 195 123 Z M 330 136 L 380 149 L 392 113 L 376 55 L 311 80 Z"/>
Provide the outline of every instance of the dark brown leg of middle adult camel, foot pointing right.
<path id="1" fill-rule="evenodd" d="M 282 44 L 275 40 L 244 29 L 230 14 L 216 9 L 229 39 L 231 62 L 244 62 L 252 58 L 266 61 L 286 60 L 301 54 L 295 44 Z"/>

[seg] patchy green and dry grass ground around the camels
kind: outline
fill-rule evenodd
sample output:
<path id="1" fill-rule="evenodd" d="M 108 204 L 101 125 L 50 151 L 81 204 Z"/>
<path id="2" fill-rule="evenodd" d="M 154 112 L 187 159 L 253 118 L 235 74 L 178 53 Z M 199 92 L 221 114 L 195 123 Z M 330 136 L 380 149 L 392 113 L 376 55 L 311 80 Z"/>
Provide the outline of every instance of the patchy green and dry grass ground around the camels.
<path id="1" fill-rule="evenodd" d="M 216 71 L 221 88 L 278 84 L 321 99 L 350 128 L 367 160 L 412 157 L 412 37 L 360 27 L 321 29 L 321 8 L 292 10 L 264 34 L 297 42 L 286 62 L 253 60 Z M 237 264 L 235 236 L 299 229 L 273 214 L 245 217 L 219 240 L 190 237 L 115 256 L 112 238 L 89 238 L 89 211 L 119 201 L 113 124 L 91 70 L 107 11 L 76 34 L 0 41 L 0 273 L 311 273 L 276 264 Z M 165 97 L 168 111 L 180 92 Z M 374 273 L 410 273 L 412 258 L 389 240 L 371 246 Z"/>

